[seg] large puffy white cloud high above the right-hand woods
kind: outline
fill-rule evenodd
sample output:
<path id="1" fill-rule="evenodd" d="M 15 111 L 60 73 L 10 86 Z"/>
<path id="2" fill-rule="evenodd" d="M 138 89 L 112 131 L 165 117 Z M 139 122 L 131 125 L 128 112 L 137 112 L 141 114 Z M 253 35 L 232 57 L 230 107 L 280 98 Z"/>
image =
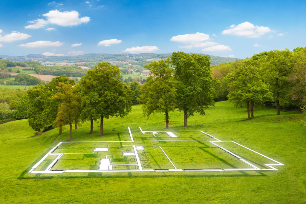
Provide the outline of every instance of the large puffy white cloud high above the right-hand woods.
<path id="1" fill-rule="evenodd" d="M 248 38 L 258 38 L 266 33 L 272 32 L 269 27 L 254 26 L 252 23 L 244 22 L 239 25 L 231 25 L 230 29 L 223 30 L 223 35 L 238 35 L 246 36 Z"/>

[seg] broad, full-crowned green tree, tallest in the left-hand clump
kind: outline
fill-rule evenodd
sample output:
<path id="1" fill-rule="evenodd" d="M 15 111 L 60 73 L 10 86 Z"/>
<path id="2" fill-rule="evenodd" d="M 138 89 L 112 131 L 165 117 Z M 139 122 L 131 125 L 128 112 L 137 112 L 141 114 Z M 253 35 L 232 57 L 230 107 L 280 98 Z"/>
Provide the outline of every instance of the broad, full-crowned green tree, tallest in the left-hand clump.
<path id="1" fill-rule="evenodd" d="M 134 93 L 120 81 L 118 66 L 108 62 L 99 63 L 81 77 L 79 84 L 83 96 L 82 115 L 88 120 L 100 119 L 100 136 L 103 136 L 104 118 L 123 117 L 131 111 Z"/>

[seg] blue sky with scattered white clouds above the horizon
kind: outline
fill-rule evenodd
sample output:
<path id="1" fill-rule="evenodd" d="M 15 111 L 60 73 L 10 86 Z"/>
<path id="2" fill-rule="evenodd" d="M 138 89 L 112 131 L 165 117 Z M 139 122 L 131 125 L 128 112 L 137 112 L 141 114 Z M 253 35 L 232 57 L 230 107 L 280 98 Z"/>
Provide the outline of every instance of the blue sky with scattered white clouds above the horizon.
<path id="1" fill-rule="evenodd" d="M 184 51 L 245 58 L 306 46 L 305 5 L 305 1 L 0 0 L 0 55 Z"/>

